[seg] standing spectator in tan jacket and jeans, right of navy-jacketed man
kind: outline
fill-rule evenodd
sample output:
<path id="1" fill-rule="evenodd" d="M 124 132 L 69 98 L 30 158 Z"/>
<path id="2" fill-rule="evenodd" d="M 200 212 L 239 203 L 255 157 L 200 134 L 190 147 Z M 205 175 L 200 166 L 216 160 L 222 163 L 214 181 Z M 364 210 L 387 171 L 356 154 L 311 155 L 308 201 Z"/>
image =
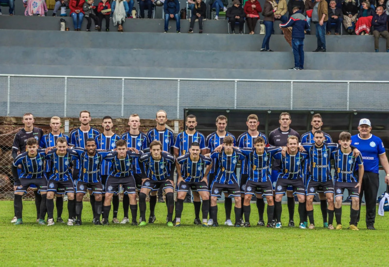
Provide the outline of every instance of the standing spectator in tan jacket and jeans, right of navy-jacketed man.
<path id="1" fill-rule="evenodd" d="M 314 52 L 325 52 L 325 28 L 328 20 L 328 4 L 326 0 L 316 0 L 312 11 L 312 21 L 316 25 L 318 48 Z"/>

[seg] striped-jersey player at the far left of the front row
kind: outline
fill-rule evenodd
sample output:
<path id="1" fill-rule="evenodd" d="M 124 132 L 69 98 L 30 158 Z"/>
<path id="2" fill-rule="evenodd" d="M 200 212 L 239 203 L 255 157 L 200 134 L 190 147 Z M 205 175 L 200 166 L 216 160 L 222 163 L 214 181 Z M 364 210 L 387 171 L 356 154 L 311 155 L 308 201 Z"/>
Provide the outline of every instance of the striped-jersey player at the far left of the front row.
<path id="1" fill-rule="evenodd" d="M 31 184 L 37 186 L 37 191 L 42 197 L 39 212 L 39 224 L 45 224 L 46 215 L 46 190 L 47 180 L 44 173 L 45 150 L 38 149 L 38 141 L 34 137 L 30 137 L 26 142 L 27 151 L 19 154 L 13 162 L 12 174 L 15 184 L 14 207 L 16 211 L 16 225 L 23 224 L 22 220 L 22 196 L 27 193 L 28 187 Z M 21 173 L 18 175 L 18 165 L 21 165 Z"/>

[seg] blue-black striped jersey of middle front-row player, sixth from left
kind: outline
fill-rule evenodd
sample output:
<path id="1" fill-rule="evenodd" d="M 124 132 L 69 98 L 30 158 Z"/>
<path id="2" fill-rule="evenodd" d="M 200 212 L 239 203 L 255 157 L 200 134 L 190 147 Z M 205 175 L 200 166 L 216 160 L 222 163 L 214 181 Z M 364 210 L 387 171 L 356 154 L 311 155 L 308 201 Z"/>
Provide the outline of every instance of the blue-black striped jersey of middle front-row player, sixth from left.
<path id="1" fill-rule="evenodd" d="M 181 165 L 181 175 L 185 182 L 197 183 L 203 179 L 205 169 L 212 164 L 212 159 L 204 155 L 199 155 L 198 161 L 191 160 L 191 154 L 186 153 L 177 158 Z"/>

